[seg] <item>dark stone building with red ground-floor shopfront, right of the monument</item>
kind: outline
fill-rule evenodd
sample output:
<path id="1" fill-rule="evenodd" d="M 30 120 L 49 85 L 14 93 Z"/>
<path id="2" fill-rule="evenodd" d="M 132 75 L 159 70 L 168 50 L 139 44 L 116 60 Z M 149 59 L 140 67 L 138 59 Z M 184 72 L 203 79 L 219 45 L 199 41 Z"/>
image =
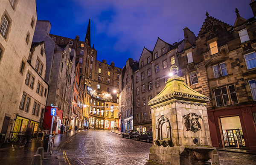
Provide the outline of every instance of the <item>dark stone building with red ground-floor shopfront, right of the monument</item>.
<path id="1" fill-rule="evenodd" d="M 206 13 L 191 46 L 179 53 L 183 79 L 207 102 L 212 146 L 256 150 L 256 2 L 254 17 L 228 25 Z M 235 14 L 235 13 L 234 13 Z"/>

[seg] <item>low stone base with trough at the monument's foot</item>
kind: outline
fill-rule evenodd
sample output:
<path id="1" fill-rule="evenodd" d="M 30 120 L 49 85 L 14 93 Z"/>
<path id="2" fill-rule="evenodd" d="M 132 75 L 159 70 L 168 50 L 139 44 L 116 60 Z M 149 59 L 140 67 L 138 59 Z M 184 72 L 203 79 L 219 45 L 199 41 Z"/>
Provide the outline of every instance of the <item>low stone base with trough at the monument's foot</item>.
<path id="1" fill-rule="evenodd" d="M 214 147 L 163 147 L 153 145 L 149 159 L 161 165 L 219 165 Z"/>

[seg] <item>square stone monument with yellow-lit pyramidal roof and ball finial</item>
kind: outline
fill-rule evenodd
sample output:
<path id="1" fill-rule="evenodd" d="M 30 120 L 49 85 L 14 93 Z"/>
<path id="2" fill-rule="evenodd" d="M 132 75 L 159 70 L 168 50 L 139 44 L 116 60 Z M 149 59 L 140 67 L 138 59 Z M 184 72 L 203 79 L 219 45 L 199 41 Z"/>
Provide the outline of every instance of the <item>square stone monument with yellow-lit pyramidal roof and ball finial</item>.
<path id="1" fill-rule="evenodd" d="M 149 159 L 162 165 L 219 165 L 212 147 L 207 117 L 210 98 L 185 84 L 178 67 L 166 87 L 148 102 L 152 114 L 153 146 Z"/>

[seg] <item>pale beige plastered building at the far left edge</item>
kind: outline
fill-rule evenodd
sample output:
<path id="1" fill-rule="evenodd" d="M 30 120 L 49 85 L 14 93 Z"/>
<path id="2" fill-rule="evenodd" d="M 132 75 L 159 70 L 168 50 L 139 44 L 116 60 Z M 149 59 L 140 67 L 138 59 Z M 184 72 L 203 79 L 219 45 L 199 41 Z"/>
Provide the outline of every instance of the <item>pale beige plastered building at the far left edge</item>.
<path id="1" fill-rule="evenodd" d="M 13 130 L 17 114 L 22 114 L 23 117 L 28 115 L 27 119 L 32 117 L 31 111 L 24 113 L 24 110 L 19 107 L 29 68 L 27 61 L 36 20 L 35 0 L 1 0 L 0 132 L 4 134 Z M 33 116 L 32 119 L 39 122 L 36 116 Z"/>

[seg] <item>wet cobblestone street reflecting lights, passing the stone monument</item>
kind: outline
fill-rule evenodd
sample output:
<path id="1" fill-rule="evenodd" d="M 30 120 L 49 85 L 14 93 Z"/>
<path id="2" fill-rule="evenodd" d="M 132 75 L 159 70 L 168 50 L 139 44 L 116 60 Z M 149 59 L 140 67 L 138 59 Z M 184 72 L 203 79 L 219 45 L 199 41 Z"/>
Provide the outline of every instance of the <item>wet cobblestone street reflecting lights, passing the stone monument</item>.
<path id="1" fill-rule="evenodd" d="M 151 146 L 109 130 L 88 130 L 63 144 L 59 156 L 67 165 L 145 165 Z M 221 165 L 256 165 L 256 155 L 226 151 L 218 154 Z"/>

